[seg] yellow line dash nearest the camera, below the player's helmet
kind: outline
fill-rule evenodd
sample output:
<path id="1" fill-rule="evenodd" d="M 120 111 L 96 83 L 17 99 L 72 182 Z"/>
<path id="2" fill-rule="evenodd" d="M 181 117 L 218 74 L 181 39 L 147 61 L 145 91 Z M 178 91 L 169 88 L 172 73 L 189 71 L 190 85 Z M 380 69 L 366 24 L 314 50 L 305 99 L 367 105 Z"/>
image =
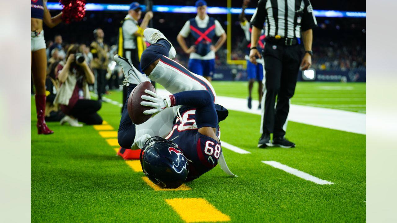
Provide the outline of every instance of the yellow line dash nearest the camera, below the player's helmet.
<path id="1" fill-rule="evenodd" d="M 230 221 L 229 216 L 202 198 L 174 198 L 166 202 L 186 222 Z"/>

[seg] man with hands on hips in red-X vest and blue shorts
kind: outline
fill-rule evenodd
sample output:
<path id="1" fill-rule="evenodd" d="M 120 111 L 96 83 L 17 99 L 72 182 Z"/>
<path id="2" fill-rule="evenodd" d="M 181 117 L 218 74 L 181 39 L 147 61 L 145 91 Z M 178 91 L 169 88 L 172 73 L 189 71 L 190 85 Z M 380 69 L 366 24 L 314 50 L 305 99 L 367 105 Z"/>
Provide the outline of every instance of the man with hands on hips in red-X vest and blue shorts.
<path id="1" fill-rule="evenodd" d="M 215 52 L 226 41 L 226 33 L 218 20 L 207 15 L 207 2 L 198 0 L 195 6 L 197 7 L 197 16 L 186 21 L 177 36 L 177 40 L 182 50 L 190 54 L 189 71 L 211 81 L 215 72 Z M 190 48 L 187 47 L 185 42 L 189 33 L 194 43 Z M 215 35 L 219 39 L 214 45 L 212 40 Z"/>

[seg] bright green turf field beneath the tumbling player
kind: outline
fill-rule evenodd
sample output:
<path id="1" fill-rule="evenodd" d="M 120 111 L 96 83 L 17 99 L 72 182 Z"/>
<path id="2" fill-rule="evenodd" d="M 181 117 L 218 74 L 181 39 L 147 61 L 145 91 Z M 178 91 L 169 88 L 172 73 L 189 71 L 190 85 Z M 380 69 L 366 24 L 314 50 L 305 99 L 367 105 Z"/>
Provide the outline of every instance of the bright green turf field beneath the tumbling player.
<path id="1" fill-rule="evenodd" d="M 218 95 L 247 96 L 246 83 L 214 82 L 214 88 Z M 107 97 L 121 102 L 118 91 Z M 365 84 L 299 83 L 291 102 L 365 113 Z M 200 214 L 207 217 L 201 221 L 366 220 L 365 135 L 289 122 L 287 137 L 296 148 L 259 149 L 260 116 L 230 111 L 220 123 L 222 141 L 251 152 L 223 150 L 239 177 L 215 167 L 186 183 L 185 190 L 161 191 L 134 171 L 136 163 L 115 156 L 118 106 L 102 104 L 106 125 L 48 123 L 55 133 L 44 136 L 37 135 L 34 97 L 31 103 L 32 222 L 193 222 Z M 262 161 L 277 161 L 333 184 L 318 185 Z"/>

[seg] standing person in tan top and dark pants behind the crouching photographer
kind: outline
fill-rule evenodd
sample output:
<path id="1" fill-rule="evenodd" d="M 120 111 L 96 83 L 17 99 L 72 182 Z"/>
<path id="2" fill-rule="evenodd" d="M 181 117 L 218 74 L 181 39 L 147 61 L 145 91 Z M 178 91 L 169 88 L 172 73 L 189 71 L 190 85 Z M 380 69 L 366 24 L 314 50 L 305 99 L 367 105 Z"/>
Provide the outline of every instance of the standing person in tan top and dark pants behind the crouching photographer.
<path id="1" fill-rule="evenodd" d="M 96 86 L 98 93 L 98 100 L 102 100 L 102 94 L 105 93 L 106 85 L 106 69 L 108 68 L 108 45 L 103 42 L 104 32 L 100 28 L 94 30 L 94 42 L 91 43 L 91 53 L 93 54 L 93 60 L 91 66 L 93 67 L 94 74 L 96 77 Z"/>

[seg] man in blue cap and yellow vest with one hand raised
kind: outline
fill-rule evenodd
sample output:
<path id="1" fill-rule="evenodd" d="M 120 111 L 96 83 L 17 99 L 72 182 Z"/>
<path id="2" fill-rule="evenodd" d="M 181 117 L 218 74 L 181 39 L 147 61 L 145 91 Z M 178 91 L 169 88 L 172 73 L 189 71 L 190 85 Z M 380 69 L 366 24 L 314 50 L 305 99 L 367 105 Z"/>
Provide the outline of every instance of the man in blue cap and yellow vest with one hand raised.
<path id="1" fill-rule="evenodd" d="M 142 8 L 138 2 L 129 5 L 128 14 L 121 21 L 119 28 L 119 45 L 118 55 L 127 58 L 137 69 L 141 70 L 140 60 L 143 50 L 146 49 L 146 42 L 143 38 L 143 30 L 148 26 L 150 19 L 153 18 L 153 12 L 148 11 L 143 17 L 141 25 L 138 25 L 141 19 Z M 123 107 L 127 100 L 127 87 L 123 86 Z"/>

